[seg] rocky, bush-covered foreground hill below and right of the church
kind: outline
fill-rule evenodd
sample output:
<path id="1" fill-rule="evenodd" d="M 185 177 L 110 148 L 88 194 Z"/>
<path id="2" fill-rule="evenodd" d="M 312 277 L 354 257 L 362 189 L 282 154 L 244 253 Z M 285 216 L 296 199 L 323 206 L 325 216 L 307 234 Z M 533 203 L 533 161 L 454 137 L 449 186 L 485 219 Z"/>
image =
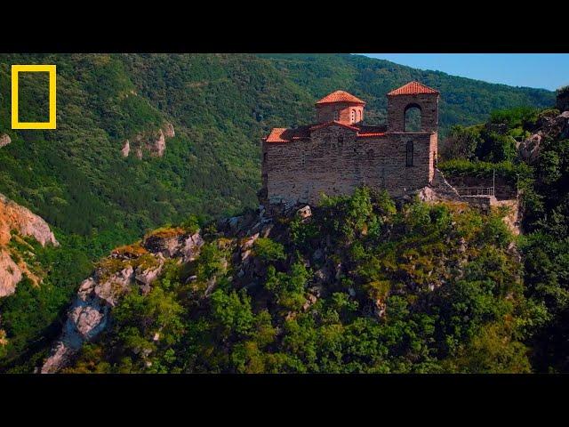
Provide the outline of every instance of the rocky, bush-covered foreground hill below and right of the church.
<path id="1" fill-rule="evenodd" d="M 96 339 L 66 358 L 52 353 L 44 368 L 567 372 L 568 138 L 569 111 L 557 109 L 500 110 L 453 128 L 441 168 L 479 178 L 495 170 L 502 185 L 518 185 L 517 237 L 508 208 L 396 203 L 366 188 L 273 221 L 248 212 L 154 230 L 97 264 L 73 307 L 101 317 L 68 319 Z"/>

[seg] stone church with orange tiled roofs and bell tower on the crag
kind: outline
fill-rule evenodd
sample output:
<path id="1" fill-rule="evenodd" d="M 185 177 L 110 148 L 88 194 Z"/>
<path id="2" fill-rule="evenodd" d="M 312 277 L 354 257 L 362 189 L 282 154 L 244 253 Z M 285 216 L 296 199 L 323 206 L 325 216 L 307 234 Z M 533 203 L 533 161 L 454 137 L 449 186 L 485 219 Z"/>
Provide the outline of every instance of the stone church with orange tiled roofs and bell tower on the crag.
<path id="1" fill-rule="evenodd" d="M 435 177 L 439 93 L 410 82 L 387 94 L 388 125 L 365 124 L 365 101 L 337 91 L 316 103 L 316 123 L 275 128 L 262 141 L 260 202 L 317 204 L 361 185 L 400 197 Z M 410 132 L 409 109 L 421 112 Z M 408 121 L 408 120 L 407 120 Z"/>

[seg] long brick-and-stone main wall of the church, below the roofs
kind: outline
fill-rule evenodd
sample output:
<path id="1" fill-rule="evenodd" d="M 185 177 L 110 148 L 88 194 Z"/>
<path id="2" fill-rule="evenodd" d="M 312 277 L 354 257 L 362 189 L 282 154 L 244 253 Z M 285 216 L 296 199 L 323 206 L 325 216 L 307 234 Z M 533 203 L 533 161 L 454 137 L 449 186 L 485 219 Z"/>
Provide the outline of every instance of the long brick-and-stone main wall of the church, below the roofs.
<path id="1" fill-rule="evenodd" d="M 413 141 L 412 166 L 406 166 L 407 141 Z M 263 142 L 262 152 L 261 198 L 270 205 L 313 205 L 322 192 L 346 195 L 363 184 L 399 197 L 433 179 L 437 133 L 357 138 L 353 130 L 330 125 L 311 140 Z"/>

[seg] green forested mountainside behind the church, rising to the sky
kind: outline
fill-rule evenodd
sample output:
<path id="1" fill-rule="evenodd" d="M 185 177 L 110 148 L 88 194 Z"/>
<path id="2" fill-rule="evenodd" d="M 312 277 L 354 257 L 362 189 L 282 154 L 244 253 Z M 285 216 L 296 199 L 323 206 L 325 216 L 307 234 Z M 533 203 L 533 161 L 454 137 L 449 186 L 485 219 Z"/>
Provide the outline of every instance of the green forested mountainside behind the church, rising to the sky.
<path id="1" fill-rule="evenodd" d="M 28 63 L 58 66 L 56 131 L 10 128 L 10 65 Z M 29 242 L 43 285 L 24 279 L 0 300 L 3 366 L 37 364 L 79 282 L 111 248 L 191 214 L 204 223 L 255 206 L 259 142 L 269 128 L 311 122 L 314 101 L 336 89 L 368 101 L 368 121 L 381 123 L 385 93 L 413 79 L 441 91 L 442 133 L 494 109 L 554 100 L 548 91 L 353 55 L 0 55 L 0 136 L 11 141 L 0 148 L 0 193 L 42 216 L 60 242 Z M 46 78 L 20 85 L 20 119 L 43 120 Z M 123 156 L 126 140 L 166 124 L 175 136 L 164 156 Z"/>

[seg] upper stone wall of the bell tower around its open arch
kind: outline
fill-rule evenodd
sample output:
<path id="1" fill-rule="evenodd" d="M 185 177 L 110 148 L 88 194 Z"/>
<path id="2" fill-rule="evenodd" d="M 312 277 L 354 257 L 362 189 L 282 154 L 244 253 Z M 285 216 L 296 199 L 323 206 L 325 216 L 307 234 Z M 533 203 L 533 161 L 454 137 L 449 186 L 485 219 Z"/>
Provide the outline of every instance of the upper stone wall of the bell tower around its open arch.
<path id="1" fill-rule="evenodd" d="M 421 109 L 421 131 L 437 132 L 437 93 L 388 96 L 388 131 L 405 132 L 405 111 L 412 106 Z"/>

